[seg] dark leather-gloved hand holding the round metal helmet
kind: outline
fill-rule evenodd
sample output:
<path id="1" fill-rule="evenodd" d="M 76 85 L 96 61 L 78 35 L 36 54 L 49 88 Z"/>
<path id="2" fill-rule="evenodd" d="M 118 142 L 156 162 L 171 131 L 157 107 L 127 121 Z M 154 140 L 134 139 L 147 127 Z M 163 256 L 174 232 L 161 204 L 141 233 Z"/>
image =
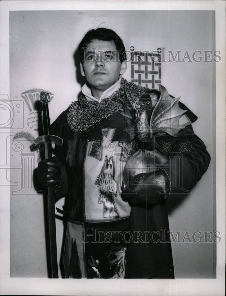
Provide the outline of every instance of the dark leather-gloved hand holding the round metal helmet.
<path id="1" fill-rule="evenodd" d="M 121 197 L 133 203 L 156 204 L 162 198 L 167 199 L 169 177 L 164 170 L 157 170 L 152 173 L 142 173 L 129 180 L 128 188 L 123 184 Z M 135 194 L 136 191 L 137 194 Z M 160 192 L 164 192 L 161 193 Z"/>

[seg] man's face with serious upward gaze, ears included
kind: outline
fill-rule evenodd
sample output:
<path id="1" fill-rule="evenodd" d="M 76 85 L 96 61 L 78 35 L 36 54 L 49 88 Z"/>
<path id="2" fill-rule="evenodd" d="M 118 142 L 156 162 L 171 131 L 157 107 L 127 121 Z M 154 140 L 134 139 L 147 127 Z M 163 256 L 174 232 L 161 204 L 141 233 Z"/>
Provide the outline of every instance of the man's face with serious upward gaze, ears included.
<path id="1" fill-rule="evenodd" d="M 126 71 L 126 62 L 120 62 L 114 41 L 92 40 L 85 50 L 81 74 L 91 89 L 105 91 Z"/>

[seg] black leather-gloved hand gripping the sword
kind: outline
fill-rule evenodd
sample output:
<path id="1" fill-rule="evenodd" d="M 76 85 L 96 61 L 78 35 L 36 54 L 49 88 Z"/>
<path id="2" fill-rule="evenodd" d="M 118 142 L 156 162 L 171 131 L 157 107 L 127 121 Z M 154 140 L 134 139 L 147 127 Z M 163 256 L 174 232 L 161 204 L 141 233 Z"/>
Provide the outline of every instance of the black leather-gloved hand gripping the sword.
<path id="1" fill-rule="evenodd" d="M 59 160 L 45 159 L 38 163 L 38 178 L 43 186 L 59 185 L 62 181 L 62 172 Z"/>

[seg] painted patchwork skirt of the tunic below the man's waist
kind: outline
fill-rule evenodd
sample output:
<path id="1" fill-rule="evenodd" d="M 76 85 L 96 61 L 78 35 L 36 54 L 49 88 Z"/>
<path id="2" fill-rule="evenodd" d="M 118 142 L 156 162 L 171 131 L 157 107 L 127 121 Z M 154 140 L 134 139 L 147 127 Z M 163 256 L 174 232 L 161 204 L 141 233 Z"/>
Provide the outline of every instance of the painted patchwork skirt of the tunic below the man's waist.
<path id="1" fill-rule="evenodd" d="M 63 266 L 66 278 L 124 279 L 129 218 L 68 221 Z"/>

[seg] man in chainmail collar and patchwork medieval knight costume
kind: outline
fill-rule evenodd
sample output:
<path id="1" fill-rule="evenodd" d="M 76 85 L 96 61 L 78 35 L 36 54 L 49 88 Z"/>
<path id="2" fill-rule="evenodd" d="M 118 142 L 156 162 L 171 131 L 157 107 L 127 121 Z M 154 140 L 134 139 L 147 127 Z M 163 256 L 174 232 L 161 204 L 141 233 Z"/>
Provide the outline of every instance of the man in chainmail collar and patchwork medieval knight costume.
<path id="1" fill-rule="evenodd" d="M 210 162 L 191 126 L 197 117 L 163 86 L 122 78 L 124 53 L 114 31 L 86 33 L 87 83 L 51 125 L 63 146 L 38 165 L 41 184 L 66 196 L 66 278 L 174 278 L 166 200 L 191 190 Z"/>

